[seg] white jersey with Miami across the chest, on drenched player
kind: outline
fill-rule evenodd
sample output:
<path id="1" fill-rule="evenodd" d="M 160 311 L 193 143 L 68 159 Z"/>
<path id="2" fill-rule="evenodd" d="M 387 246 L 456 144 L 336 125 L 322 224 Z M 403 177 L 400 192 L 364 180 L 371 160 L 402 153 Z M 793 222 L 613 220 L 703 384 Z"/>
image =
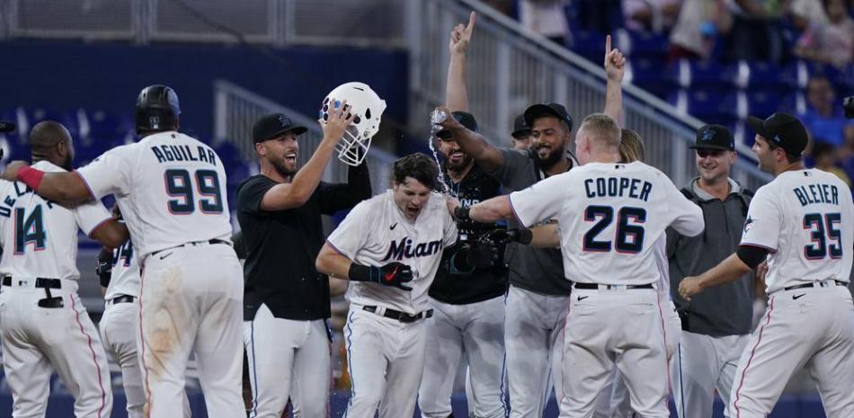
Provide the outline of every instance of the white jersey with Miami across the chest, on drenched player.
<path id="1" fill-rule="evenodd" d="M 457 224 L 438 193 L 431 194 L 413 222 L 397 208 L 394 191 L 388 190 L 356 205 L 326 241 L 359 264 L 402 262 L 412 267 L 413 280 L 405 284 L 412 291 L 352 281 L 347 300 L 414 315 L 429 307 L 427 290 L 439 269 L 442 249 L 457 242 Z"/>

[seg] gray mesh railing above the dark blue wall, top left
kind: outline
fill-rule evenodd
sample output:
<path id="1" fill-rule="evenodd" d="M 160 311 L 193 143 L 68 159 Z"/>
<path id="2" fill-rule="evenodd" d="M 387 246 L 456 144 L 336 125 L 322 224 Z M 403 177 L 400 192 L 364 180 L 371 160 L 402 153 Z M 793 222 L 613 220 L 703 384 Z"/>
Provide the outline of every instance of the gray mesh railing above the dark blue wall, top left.
<path id="1" fill-rule="evenodd" d="M 402 47 L 398 0 L 0 0 L 0 38 Z"/>

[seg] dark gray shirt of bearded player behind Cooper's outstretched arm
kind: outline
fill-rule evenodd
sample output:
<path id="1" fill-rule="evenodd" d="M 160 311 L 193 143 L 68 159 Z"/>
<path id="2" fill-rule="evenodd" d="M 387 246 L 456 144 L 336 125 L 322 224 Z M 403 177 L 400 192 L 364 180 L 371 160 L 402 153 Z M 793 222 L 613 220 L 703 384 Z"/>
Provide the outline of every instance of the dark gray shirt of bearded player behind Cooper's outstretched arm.
<path id="1" fill-rule="evenodd" d="M 539 167 L 538 156 L 529 151 L 499 148 L 503 165 L 493 176 L 502 183 L 505 193 L 527 189 L 546 178 Z M 573 166 L 576 165 L 573 161 Z M 515 219 L 508 227 L 519 227 Z M 560 249 L 534 248 L 512 243 L 507 245 L 504 262 L 508 266 L 508 279 L 513 286 L 543 295 L 569 295 L 572 283 L 564 278 L 563 258 Z"/>

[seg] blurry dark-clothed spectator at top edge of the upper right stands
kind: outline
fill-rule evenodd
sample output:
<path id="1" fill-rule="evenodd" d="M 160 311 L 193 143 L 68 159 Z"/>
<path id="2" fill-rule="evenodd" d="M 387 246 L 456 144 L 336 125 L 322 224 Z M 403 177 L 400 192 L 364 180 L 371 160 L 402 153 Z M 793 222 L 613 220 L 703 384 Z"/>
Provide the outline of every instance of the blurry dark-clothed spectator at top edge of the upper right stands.
<path id="1" fill-rule="evenodd" d="M 729 60 L 779 62 L 783 54 L 779 0 L 730 0 L 733 29 L 726 40 L 725 58 Z"/>

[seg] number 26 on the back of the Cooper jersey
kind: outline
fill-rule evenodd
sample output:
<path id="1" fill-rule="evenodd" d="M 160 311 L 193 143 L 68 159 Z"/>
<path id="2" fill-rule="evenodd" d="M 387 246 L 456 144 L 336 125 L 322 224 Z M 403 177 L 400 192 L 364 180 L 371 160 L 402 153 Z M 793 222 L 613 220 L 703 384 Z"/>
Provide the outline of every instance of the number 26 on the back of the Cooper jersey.
<path id="1" fill-rule="evenodd" d="M 588 206 L 584 210 L 584 220 L 592 222 L 599 219 L 586 234 L 584 234 L 583 250 L 596 253 L 611 251 L 612 241 L 597 239 L 597 236 L 614 222 L 614 208 L 610 206 Z M 646 210 L 642 208 L 622 208 L 617 214 L 617 233 L 613 245 L 618 253 L 640 253 L 644 248 L 645 229 L 641 225 L 646 222 Z"/>

